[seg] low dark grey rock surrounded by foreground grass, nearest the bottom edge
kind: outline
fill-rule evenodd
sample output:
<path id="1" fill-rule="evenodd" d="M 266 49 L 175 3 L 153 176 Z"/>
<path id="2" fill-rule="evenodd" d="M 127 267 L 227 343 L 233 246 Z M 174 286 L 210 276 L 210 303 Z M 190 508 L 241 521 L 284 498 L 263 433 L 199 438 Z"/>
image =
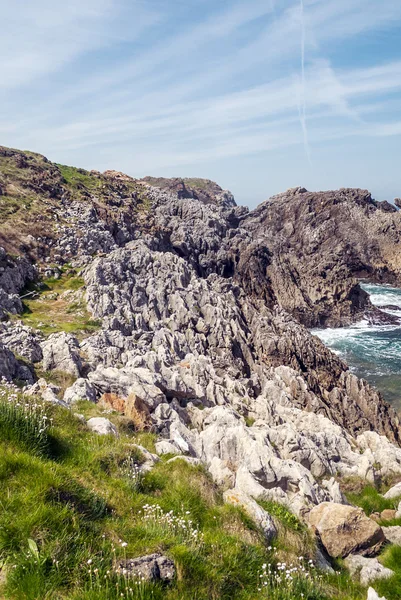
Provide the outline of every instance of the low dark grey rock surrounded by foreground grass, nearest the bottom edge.
<path id="1" fill-rule="evenodd" d="M 118 559 L 115 569 L 125 577 L 145 581 L 170 583 L 175 577 L 174 561 L 162 554 L 148 554 L 139 558 Z"/>

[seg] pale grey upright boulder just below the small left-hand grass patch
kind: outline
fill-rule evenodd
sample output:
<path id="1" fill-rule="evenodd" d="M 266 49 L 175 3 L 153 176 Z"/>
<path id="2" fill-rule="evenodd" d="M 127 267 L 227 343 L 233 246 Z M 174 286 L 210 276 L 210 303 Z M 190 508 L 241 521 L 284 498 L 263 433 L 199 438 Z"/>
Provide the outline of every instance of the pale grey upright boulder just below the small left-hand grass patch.
<path id="1" fill-rule="evenodd" d="M 79 354 L 79 343 L 71 333 L 61 331 L 52 333 L 41 344 L 43 352 L 43 368 L 45 371 L 64 371 L 79 377 L 82 361 Z"/>

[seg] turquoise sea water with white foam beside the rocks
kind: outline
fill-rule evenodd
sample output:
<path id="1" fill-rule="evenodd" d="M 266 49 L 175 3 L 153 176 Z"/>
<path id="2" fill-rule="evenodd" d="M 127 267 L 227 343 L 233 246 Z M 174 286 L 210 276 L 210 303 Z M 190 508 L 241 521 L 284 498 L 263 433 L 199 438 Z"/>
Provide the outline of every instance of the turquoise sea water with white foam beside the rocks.
<path id="1" fill-rule="evenodd" d="M 399 309 L 384 310 L 401 318 L 401 289 L 373 284 L 362 287 L 376 306 L 398 306 Z M 401 411 L 401 325 L 369 325 L 361 321 L 351 327 L 315 329 L 312 333 Z"/>

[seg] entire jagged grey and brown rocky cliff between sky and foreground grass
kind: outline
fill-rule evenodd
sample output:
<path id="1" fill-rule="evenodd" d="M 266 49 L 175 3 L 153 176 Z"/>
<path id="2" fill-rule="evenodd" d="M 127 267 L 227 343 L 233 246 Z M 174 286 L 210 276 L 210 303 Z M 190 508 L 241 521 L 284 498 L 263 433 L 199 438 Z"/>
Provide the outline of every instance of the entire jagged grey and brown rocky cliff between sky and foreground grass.
<path id="1" fill-rule="evenodd" d="M 52 322 L 47 339 L 43 323 L 0 331 L 5 349 L 34 345 L 47 370 L 80 376 L 66 402 L 133 403 L 216 481 L 298 511 L 336 497 L 317 477 L 401 473 L 401 451 L 378 435 L 399 443 L 398 417 L 304 327 L 380 317 L 357 278 L 400 280 L 398 212 L 361 190 L 301 189 L 249 212 L 209 181 L 88 173 L 8 149 L 0 159 L 0 236 L 21 256 L 4 271 L 20 277 L 0 278 L 4 313 L 21 311 L 29 257 L 42 277 L 83 278 L 58 299 L 39 290 L 39 304 L 57 302 L 58 318 L 86 303 L 100 324 Z"/>

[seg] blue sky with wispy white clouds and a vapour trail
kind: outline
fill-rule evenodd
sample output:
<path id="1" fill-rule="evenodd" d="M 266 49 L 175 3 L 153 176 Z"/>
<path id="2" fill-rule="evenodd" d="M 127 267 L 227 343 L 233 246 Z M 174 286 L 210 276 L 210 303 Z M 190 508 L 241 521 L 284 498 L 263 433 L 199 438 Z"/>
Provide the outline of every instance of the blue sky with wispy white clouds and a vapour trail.
<path id="1" fill-rule="evenodd" d="M 0 144 L 250 207 L 401 196 L 401 0 L 0 0 Z"/>

